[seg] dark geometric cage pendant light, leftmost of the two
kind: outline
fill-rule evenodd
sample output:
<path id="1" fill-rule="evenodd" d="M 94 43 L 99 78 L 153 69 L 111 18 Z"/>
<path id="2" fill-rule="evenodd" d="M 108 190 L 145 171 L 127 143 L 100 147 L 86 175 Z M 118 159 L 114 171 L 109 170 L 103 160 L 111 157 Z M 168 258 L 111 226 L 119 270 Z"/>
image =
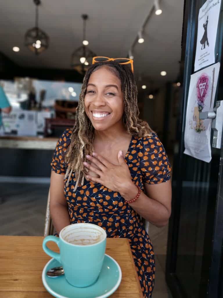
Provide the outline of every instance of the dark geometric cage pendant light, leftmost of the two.
<path id="1" fill-rule="evenodd" d="M 36 5 L 36 19 L 35 27 L 29 29 L 25 34 L 25 46 L 36 55 L 42 53 L 49 46 L 49 36 L 38 27 L 38 6 L 40 5 L 40 0 L 33 0 Z"/>

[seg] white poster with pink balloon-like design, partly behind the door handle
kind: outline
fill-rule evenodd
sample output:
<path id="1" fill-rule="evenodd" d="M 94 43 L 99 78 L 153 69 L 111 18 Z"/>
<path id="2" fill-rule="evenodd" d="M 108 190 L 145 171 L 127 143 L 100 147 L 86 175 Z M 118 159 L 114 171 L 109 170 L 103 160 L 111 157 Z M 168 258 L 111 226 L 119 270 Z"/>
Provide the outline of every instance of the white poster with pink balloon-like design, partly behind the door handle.
<path id="1" fill-rule="evenodd" d="M 220 63 L 191 75 L 187 101 L 183 153 L 211 161 L 211 119 L 199 119 L 200 112 L 212 111 Z"/>

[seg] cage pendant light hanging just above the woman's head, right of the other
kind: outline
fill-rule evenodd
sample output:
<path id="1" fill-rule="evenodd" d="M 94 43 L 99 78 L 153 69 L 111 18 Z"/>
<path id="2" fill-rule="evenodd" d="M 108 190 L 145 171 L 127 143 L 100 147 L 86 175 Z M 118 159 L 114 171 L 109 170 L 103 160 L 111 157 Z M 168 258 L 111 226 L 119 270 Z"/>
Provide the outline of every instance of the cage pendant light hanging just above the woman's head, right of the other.
<path id="1" fill-rule="evenodd" d="M 89 44 L 86 39 L 86 20 L 88 19 L 88 15 L 84 14 L 81 17 L 83 19 L 82 45 L 73 52 L 71 56 L 71 67 L 76 69 L 81 74 L 84 74 L 92 58 L 97 55 L 87 47 Z"/>

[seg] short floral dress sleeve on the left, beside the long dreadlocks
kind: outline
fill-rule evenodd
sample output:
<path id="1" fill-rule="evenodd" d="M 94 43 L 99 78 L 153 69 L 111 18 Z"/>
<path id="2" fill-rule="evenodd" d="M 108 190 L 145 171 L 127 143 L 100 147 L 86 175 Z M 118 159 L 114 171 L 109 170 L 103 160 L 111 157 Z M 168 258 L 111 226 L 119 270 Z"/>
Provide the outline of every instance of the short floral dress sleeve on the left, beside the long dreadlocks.
<path id="1" fill-rule="evenodd" d="M 54 150 L 53 159 L 51 162 L 52 170 L 57 174 L 65 174 L 67 165 L 65 163 L 65 153 L 70 145 L 72 131 L 66 129 L 59 138 L 56 149 Z"/>

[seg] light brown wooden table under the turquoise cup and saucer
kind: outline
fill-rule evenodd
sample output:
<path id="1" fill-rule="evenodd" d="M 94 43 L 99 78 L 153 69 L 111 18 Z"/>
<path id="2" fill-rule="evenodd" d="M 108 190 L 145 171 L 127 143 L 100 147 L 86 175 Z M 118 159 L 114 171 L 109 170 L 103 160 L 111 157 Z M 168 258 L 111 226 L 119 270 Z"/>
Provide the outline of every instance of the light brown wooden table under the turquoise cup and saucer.
<path id="1" fill-rule="evenodd" d="M 0 236 L 0 297 L 53 297 L 42 283 L 42 271 L 51 259 L 42 248 L 44 237 Z M 59 252 L 55 243 L 48 247 Z M 106 254 L 113 257 L 122 270 L 122 281 L 112 298 L 143 297 L 130 245 L 125 238 L 107 238 Z"/>

